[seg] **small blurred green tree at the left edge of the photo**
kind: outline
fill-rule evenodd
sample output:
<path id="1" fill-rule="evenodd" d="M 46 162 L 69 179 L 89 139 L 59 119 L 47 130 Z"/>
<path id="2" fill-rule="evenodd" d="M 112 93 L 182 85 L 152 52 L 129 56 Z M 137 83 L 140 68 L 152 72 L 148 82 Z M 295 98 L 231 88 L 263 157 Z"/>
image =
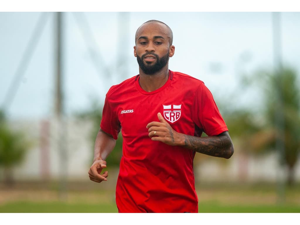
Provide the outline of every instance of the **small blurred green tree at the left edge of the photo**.
<path id="1" fill-rule="evenodd" d="M 0 111 L 0 167 L 4 168 L 4 181 L 13 184 L 13 167 L 24 159 L 29 142 L 21 132 L 12 131 Z"/>

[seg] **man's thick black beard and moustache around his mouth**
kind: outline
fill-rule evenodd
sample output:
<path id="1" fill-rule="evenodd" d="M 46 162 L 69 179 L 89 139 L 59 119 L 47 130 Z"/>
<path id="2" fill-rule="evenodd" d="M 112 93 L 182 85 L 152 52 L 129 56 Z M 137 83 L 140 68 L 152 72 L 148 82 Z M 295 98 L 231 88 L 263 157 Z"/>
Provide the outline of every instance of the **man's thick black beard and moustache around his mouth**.
<path id="1" fill-rule="evenodd" d="M 151 65 L 151 62 L 149 63 L 144 63 L 144 58 L 147 55 L 153 55 L 156 58 L 156 62 Z M 140 68 L 143 70 L 145 74 L 152 75 L 159 70 L 161 70 L 169 60 L 169 53 L 167 55 L 164 55 L 163 57 L 159 58 L 158 55 L 152 52 L 147 52 L 146 54 L 142 55 L 142 58 L 137 55 L 137 63 L 139 64 Z"/>

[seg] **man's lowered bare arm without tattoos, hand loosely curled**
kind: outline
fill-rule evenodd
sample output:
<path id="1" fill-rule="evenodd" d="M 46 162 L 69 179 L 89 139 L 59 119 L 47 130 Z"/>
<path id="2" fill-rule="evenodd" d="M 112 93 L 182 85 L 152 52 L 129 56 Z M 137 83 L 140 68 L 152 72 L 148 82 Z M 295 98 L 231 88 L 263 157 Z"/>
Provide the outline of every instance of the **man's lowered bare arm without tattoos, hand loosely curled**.
<path id="1" fill-rule="evenodd" d="M 100 183 L 102 181 L 107 181 L 108 172 L 105 171 L 101 174 L 103 168 L 106 168 L 105 159 L 113 151 L 116 146 L 116 140 L 112 135 L 105 133 L 104 131 L 98 131 L 95 148 L 94 148 L 94 161 L 88 171 L 88 176 L 91 181 Z"/>

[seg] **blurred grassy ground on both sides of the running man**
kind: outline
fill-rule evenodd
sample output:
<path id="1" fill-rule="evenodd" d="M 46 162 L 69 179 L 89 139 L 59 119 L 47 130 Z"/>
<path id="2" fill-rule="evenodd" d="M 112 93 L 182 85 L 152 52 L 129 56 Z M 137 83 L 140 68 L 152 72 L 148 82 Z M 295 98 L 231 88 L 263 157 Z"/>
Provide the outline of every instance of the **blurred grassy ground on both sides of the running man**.
<path id="1" fill-rule="evenodd" d="M 12 190 L 1 190 L 0 187 L 0 213 L 118 212 L 114 189 L 99 190 L 95 185 L 74 183 L 70 187 L 76 187 L 78 190 L 69 191 L 67 200 L 59 201 L 57 190 L 34 189 L 37 185 L 26 185 L 20 184 L 19 188 Z M 199 212 L 300 213 L 300 185 L 285 188 L 284 204 L 276 204 L 276 188 L 276 184 L 271 183 L 201 183 L 197 188 Z"/>

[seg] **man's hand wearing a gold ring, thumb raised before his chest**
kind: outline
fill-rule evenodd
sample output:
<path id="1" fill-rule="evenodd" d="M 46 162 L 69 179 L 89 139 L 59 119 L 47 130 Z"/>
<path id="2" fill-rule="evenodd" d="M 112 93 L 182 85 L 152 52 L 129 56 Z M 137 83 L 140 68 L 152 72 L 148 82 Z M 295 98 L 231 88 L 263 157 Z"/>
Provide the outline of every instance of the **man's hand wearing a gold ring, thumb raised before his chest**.
<path id="1" fill-rule="evenodd" d="M 184 135 L 174 131 L 161 113 L 158 113 L 157 117 L 160 122 L 151 122 L 146 126 L 151 140 L 172 146 L 184 145 Z"/>

